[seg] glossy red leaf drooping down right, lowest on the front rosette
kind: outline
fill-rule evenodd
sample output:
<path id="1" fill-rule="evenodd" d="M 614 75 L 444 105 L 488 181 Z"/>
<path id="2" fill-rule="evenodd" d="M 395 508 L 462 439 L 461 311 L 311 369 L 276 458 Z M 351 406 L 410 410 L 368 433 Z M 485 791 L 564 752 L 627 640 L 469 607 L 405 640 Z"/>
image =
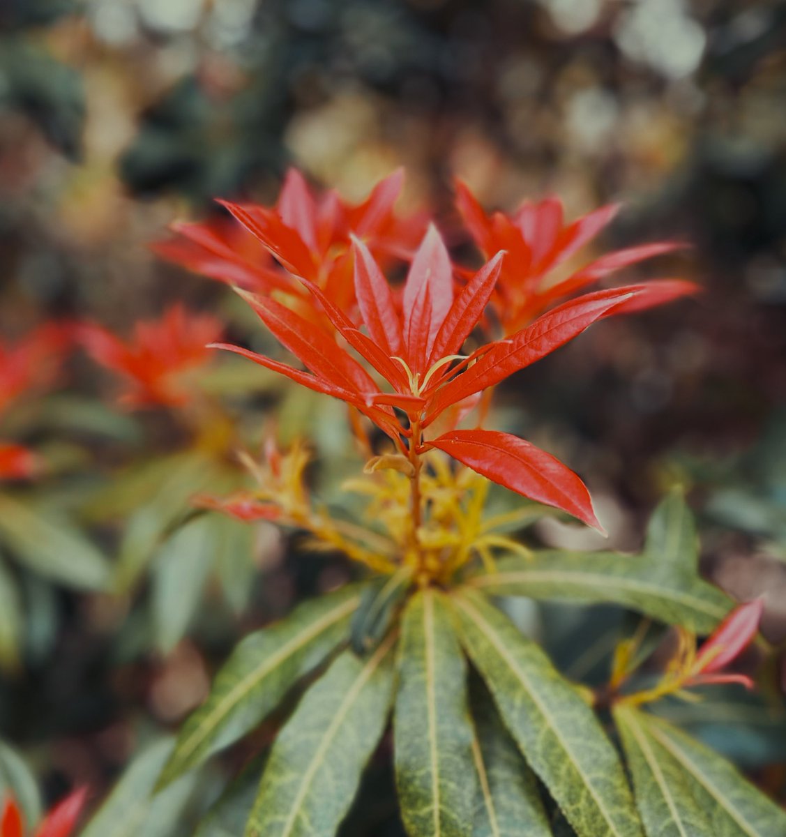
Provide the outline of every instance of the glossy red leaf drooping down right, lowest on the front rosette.
<path id="1" fill-rule="evenodd" d="M 524 439 L 497 430 L 453 430 L 428 442 L 489 480 L 604 531 L 587 486 L 559 460 Z"/>

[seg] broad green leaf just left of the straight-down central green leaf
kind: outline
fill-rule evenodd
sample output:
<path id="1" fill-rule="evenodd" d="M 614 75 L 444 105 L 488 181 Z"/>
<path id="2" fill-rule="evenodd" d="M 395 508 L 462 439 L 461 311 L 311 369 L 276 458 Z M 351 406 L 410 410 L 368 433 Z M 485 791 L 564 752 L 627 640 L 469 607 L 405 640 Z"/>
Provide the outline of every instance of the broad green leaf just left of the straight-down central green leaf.
<path id="1" fill-rule="evenodd" d="M 276 738 L 246 837 L 332 837 L 377 746 L 393 696 L 391 635 L 340 655 Z"/>

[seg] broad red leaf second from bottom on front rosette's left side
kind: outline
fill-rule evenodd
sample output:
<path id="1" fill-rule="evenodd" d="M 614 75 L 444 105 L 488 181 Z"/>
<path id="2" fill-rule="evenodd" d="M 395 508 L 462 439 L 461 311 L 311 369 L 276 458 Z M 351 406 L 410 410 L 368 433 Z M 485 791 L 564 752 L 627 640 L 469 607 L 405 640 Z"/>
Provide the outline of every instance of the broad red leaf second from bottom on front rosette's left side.
<path id="1" fill-rule="evenodd" d="M 275 338 L 324 380 L 355 393 L 373 393 L 378 386 L 366 370 L 326 331 L 270 297 L 238 291 Z"/>

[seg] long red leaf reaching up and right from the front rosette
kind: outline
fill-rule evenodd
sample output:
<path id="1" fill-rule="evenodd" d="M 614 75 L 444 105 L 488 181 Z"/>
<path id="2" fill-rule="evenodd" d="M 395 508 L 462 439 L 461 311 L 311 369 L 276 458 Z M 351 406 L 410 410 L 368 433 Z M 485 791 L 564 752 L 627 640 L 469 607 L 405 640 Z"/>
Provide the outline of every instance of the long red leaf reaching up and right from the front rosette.
<path id="1" fill-rule="evenodd" d="M 532 326 L 518 331 L 507 340 L 491 344 L 483 357 L 444 388 L 439 390 L 429 405 L 424 426 L 433 421 L 450 404 L 461 401 L 481 389 L 493 387 L 513 372 L 529 366 L 549 352 L 578 336 L 593 322 L 615 313 L 617 307 L 634 297 L 646 295 L 646 285 L 613 290 L 598 290 L 593 294 L 568 300 L 539 317 Z"/>

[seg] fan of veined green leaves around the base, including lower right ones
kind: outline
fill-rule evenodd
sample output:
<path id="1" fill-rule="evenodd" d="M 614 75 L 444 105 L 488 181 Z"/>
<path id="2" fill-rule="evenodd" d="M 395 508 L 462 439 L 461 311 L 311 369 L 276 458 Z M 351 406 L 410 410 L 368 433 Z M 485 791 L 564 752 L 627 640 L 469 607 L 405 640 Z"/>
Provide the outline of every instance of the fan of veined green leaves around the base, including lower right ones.
<path id="1" fill-rule="evenodd" d="M 257 759 L 229 784 L 198 837 L 336 834 L 391 718 L 411 837 L 786 834 L 782 809 L 663 718 L 616 706 L 615 747 L 588 690 L 488 595 L 618 603 L 707 633 L 732 602 L 699 578 L 696 557 L 690 513 L 672 495 L 638 556 L 541 552 L 450 591 L 408 589 L 402 576 L 303 603 L 238 645 L 160 775 L 149 775 L 153 798 L 167 798 L 319 670 L 264 769 Z"/>

